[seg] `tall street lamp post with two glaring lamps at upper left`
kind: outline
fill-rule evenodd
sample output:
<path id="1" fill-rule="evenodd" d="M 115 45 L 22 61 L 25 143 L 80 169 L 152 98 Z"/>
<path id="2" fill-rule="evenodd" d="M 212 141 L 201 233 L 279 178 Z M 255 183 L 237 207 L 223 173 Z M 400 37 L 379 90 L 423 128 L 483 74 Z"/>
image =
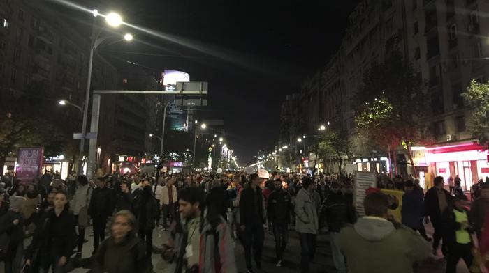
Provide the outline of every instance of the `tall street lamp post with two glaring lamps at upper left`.
<path id="1" fill-rule="evenodd" d="M 88 59 L 87 89 L 85 91 L 85 104 L 83 104 L 82 139 L 80 140 L 80 156 L 79 156 L 80 159 L 83 157 L 83 151 L 85 150 L 85 135 L 87 134 L 88 104 L 90 101 L 90 87 L 92 85 L 92 66 L 94 63 L 94 51 L 95 49 L 97 49 L 99 45 L 101 45 L 101 43 L 104 40 L 110 38 L 110 36 L 100 37 L 103 28 L 101 28 L 98 31 L 98 33 L 95 34 L 96 18 L 99 15 L 98 10 L 94 10 L 93 15 L 94 15 L 94 22 L 92 23 L 92 35 L 90 36 L 90 54 Z M 105 15 L 105 22 L 109 26 L 117 28 L 122 24 L 122 17 L 117 13 L 109 13 L 108 15 Z M 127 33 L 124 36 L 124 40 L 129 42 L 133 40 L 133 36 Z M 78 173 L 82 173 L 82 171 L 83 171 L 82 164 L 80 164 L 80 166 L 78 166 Z"/>

